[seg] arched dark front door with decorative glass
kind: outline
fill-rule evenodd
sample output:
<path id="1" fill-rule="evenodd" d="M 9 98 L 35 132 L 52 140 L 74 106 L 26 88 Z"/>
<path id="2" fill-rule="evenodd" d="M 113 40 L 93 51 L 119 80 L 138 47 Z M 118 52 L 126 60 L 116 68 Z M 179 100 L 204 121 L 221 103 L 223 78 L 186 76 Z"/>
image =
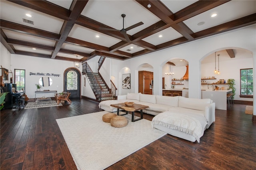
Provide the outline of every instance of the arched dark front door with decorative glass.
<path id="1" fill-rule="evenodd" d="M 70 98 L 80 98 L 81 74 L 76 68 L 68 68 L 64 71 L 64 91 L 71 93 Z"/>

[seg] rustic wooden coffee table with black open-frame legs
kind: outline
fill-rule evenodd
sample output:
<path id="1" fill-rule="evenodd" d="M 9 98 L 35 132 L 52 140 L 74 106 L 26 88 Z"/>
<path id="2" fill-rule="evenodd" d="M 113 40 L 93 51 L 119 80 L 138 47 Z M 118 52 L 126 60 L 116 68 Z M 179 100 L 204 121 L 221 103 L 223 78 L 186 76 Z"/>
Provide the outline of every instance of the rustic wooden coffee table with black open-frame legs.
<path id="1" fill-rule="evenodd" d="M 135 121 L 138 121 L 140 119 L 143 119 L 142 109 L 148 108 L 148 106 L 139 105 L 139 104 L 136 104 L 136 103 L 134 103 L 134 105 L 132 105 L 132 106 L 126 106 L 124 103 L 112 104 L 110 106 L 117 108 L 117 115 L 119 115 L 119 109 L 124 109 L 126 111 L 126 113 L 122 114 L 122 115 L 127 115 L 128 112 L 132 112 L 132 122 L 135 122 Z M 138 110 L 140 110 L 140 118 L 134 120 L 134 112 L 138 111 Z M 122 115 L 120 115 L 120 116 L 122 116 Z"/>

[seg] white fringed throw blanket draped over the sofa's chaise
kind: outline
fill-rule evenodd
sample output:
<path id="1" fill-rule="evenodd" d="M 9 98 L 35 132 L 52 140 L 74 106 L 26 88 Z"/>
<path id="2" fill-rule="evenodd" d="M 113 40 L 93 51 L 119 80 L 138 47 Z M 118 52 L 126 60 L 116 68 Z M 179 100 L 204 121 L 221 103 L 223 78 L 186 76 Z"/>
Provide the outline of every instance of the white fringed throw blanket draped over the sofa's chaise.
<path id="1" fill-rule="evenodd" d="M 207 119 L 201 115 L 191 113 L 173 113 L 166 111 L 156 115 L 152 119 L 151 125 L 152 127 L 154 127 L 154 125 L 161 125 L 166 128 L 172 128 L 190 134 L 194 136 L 199 143 L 200 137 L 204 134 Z"/>

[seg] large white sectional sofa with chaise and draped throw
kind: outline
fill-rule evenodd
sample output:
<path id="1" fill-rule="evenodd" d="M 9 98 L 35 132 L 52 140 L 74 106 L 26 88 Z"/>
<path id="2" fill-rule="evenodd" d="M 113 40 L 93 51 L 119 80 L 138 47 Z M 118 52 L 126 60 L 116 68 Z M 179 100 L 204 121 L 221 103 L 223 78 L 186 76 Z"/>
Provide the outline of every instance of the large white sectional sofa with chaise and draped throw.
<path id="1" fill-rule="evenodd" d="M 102 101 L 99 107 L 116 112 L 117 108 L 110 105 L 126 101 L 147 105 L 143 112 L 156 115 L 152 119 L 152 127 L 192 142 L 200 142 L 204 130 L 215 121 L 215 103 L 210 99 L 127 93 L 119 95 L 117 100 Z"/>

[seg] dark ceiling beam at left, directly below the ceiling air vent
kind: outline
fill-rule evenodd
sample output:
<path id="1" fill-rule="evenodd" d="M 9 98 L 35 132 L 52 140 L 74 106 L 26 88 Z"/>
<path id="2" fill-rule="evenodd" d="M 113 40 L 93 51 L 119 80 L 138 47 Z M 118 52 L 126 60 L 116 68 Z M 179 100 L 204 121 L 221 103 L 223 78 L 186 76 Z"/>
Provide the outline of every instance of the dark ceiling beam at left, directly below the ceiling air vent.
<path id="1" fill-rule="evenodd" d="M 28 34 L 32 36 L 47 38 L 50 40 L 58 41 L 60 39 L 60 36 L 58 34 L 24 26 L 21 24 L 16 24 L 13 22 L 5 21 L 5 20 L 0 21 L 0 28 L 15 31 L 15 32 L 20 32 L 20 33 Z"/>

